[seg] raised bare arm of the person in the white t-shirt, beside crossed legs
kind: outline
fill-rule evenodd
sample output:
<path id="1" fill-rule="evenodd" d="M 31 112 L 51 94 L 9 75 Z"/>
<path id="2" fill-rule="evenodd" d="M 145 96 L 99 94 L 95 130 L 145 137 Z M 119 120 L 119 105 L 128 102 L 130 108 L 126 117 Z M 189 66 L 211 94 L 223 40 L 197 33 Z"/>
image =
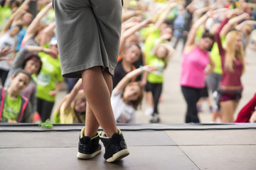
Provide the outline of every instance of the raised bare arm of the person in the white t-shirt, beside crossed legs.
<path id="1" fill-rule="evenodd" d="M 132 72 L 129 72 L 128 74 L 125 75 L 124 78 L 122 78 L 121 81 L 119 81 L 119 83 L 115 87 L 115 94 L 118 94 L 119 91 L 122 91 L 125 88 L 125 86 L 127 86 L 127 84 L 132 79 L 132 77 L 137 77 L 139 74 L 142 74 L 143 72 L 156 71 L 156 69 L 157 68 L 154 66 L 146 65 L 142 68 L 134 69 Z"/>

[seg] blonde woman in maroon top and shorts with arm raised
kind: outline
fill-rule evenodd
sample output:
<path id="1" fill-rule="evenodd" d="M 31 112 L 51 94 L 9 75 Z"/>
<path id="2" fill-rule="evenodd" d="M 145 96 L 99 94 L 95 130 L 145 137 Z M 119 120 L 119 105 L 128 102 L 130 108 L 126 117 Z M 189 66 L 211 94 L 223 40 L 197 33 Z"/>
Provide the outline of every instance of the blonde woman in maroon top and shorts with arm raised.
<path id="1" fill-rule="evenodd" d="M 245 56 L 241 33 L 238 30 L 231 30 L 225 38 L 225 49 L 220 40 L 220 31 L 228 23 L 229 18 L 237 12 L 236 10 L 228 11 L 227 18 L 220 24 L 215 35 L 223 68 L 223 79 L 220 82 L 220 108 L 223 123 L 233 123 L 234 121 L 233 116 L 242 92 L 241 76 L 245 71 Z M 246 14 L 243 13 L 241 15 Z"/>

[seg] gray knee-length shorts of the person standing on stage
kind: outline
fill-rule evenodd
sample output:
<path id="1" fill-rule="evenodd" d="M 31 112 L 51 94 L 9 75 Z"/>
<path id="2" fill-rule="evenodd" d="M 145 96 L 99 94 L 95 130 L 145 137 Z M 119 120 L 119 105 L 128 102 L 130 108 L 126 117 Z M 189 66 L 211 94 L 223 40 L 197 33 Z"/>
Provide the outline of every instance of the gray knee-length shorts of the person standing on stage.
<path id="1" fill-rule="evenodd" d="M 121 0 L 53 0 L 63 77 L 91 67 L 114 75 L 122 24 Z"/>

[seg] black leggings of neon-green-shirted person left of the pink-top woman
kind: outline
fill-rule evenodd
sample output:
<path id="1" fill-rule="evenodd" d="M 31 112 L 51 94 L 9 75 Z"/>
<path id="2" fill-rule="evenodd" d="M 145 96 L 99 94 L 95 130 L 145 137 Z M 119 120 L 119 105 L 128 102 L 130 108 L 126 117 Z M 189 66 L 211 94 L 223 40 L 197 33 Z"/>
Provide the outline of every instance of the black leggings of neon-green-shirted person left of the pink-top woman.
<path id="1" fill-rule="evenodd" d="M 161 96 L 161 91 L 163 89 L 163 84 L 151 84 L 149 82 L 146 83 L 146 91 L 151 91 L 154 99 L 154 113 L 159 114 L 158 111 L 158 103 L 159 98 Z"/>

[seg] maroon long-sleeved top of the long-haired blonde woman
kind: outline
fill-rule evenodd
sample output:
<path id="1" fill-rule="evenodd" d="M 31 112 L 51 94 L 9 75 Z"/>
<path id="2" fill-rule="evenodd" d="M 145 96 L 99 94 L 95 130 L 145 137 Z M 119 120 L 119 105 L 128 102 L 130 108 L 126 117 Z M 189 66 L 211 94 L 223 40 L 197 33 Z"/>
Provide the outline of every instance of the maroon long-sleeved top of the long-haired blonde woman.
<path id="1" fill-rule="evenodd" d="M 226 18 L 221 24 L 220 27 L 217 30 L 217 33 L 215 35 L 215 41 L 218 44 L 218 49 L 221 57 L 221 66 L 223 69 L 223 79 L 221 80 L 222 86 L 242 86 L 241 83 L 241 76 L 242 76 L 242 61 L 238 60 L 237 57 L 235 57 L 235 60 L 233 61 L 233 72 L 230 72 L 229 70 L 225 69 L 224 63 L 225 63 L 225 50 L 223 49 L 223 46 L 221 44 L 220 40 L 220 30 L 225 26 L 225 24 L 228 23 L 228 18 Z"/>

